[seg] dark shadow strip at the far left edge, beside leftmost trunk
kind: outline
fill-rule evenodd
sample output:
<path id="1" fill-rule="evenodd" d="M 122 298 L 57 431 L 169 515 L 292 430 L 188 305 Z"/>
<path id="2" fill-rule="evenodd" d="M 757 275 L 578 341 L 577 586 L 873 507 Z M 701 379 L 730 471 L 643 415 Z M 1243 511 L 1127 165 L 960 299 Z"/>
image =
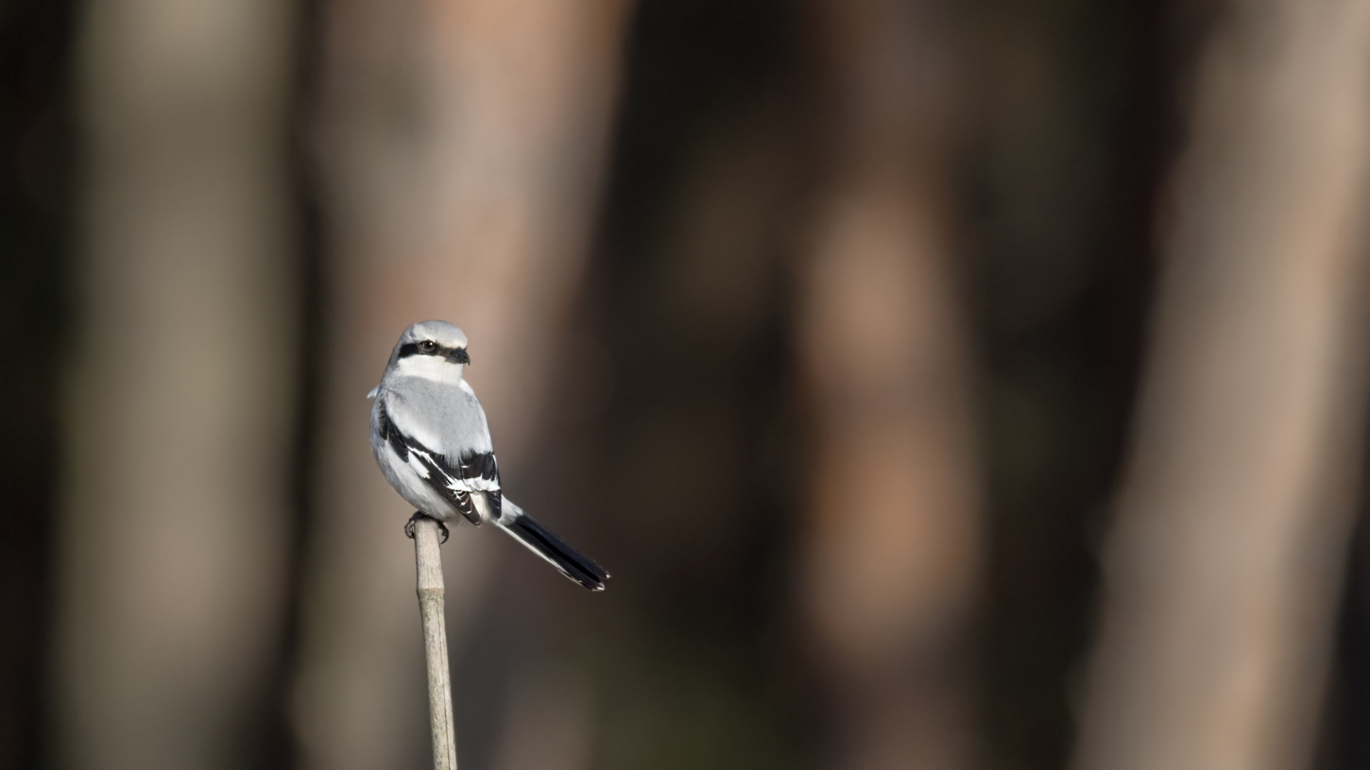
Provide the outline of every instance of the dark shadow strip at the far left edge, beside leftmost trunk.
<path id="1" fill-rule="evenodd" d="M 60 375 L 70 366 L 73 3 L 0 5 L 0 767 L 45 762 Z"/>

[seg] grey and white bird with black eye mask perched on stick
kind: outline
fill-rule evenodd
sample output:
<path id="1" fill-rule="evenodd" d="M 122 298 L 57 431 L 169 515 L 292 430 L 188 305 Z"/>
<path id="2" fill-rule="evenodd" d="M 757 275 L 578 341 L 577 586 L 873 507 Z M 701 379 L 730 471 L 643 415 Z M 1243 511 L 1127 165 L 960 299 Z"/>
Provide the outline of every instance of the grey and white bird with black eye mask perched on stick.
<path id="1" fill-rule="evenodd" d="M 603 591 L 608 573 L 593 559 L 552 534 L 500 486 L 490 429 L 475 390 L 464 380 L 471 356 L 466 333 L 447 321 L 422 321 L 404 330 L 390 352 L 381 384 L 367 393 L 371 404 L 371 454 L 400 497 L 418 508 L 404 532 L 427 517 L 493 523 L 563 575 L 590 591 Z"/>

